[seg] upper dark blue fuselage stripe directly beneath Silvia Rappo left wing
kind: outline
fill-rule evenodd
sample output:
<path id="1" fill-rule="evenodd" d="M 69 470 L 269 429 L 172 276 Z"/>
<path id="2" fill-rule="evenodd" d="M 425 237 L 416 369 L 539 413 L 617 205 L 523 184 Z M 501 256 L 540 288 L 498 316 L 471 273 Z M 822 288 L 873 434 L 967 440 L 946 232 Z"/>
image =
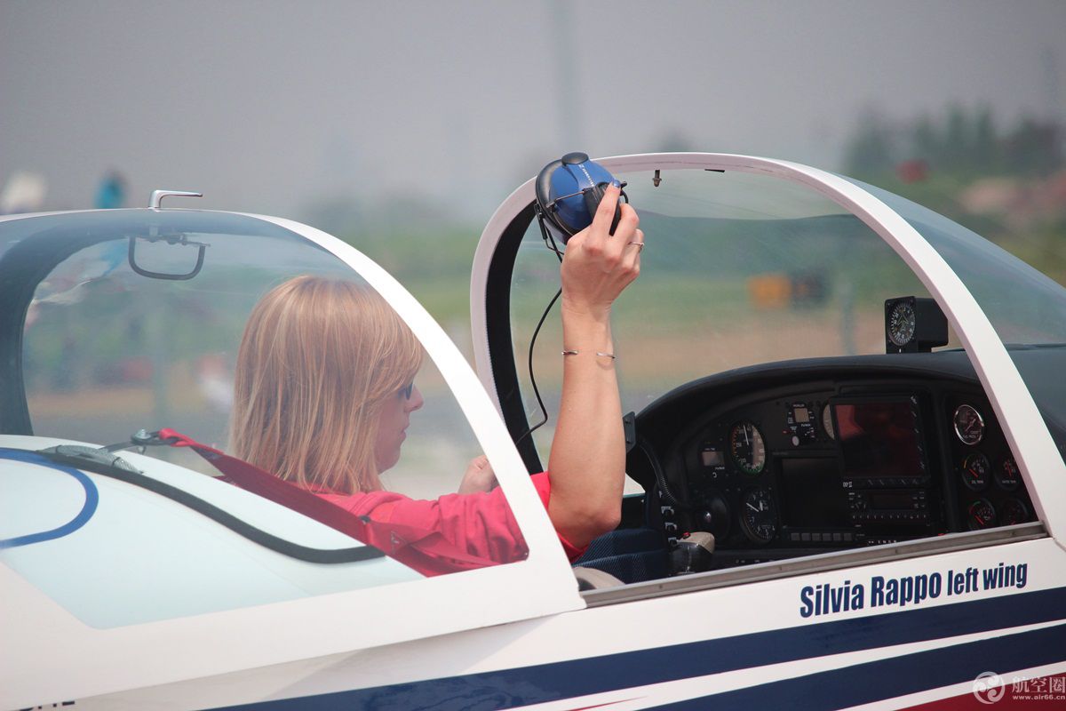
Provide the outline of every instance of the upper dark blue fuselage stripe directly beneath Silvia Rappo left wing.
<path id="1" fill-rule="evenodd" d="M 757 614 L 753 610 L 752 614 Z M 614 689 L 1066 618 L 1066 587 L 233 709 L 504 709 Z M 655 625 L 652 619 L 642 624 Z M 621 631 L 624 633 L 624 631 Z M 566 648 L 567 641 L 555 641 Z M 1060 655 L 1062 657 L 1062 655 Z M 1011 664 L 1012 668 L 1021 668 Z M 985 670 L 985 669 L 980 669 Z M 928 669 L 935 674 L 936 669 Z M 976 673 L 974 673 L 974 676 Z M 944 682 L 952 683 L 952 682 Z M 944 685 L 942 683 L 933 686 Z M 932 688 L 932 686 L 931 686 Z M 893 694 L 894 696 L 895 694 Z M 787 708 L 790 705 L 785 705 Z M 760 708 L 757 705 L 753 708 Z M 765 706 L 764 708 L 773 708 Z"/>

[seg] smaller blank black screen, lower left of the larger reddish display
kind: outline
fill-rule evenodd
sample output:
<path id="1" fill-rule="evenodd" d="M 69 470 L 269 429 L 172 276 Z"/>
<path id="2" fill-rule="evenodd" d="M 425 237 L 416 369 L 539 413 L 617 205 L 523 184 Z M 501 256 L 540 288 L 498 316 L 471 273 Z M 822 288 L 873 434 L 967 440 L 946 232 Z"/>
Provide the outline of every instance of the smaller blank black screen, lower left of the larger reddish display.
<path id="1" fill-rule="evenodd" d="M 847 492 L 837 460 L 781 458 L 778 476 L 785 526 L 838 528 L 851 526 Z"/>

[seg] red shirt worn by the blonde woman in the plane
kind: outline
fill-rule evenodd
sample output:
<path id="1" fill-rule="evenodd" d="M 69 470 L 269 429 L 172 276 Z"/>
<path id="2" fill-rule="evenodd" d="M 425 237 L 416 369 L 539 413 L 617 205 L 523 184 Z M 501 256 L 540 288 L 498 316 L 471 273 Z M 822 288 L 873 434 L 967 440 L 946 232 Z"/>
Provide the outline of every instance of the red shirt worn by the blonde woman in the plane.
<path id="1" fill-rule="evenodd" d="M 530 479 L 547 508 L 551 497 L 548 473 Z M 425 576 L 513 563 L 529 554 L 500 487 L 477 494 L 447 494 L 433 500 L 411 499 L 394 491 L 317 494 L 368 523 L 364 543 Z M 570 561 L 584 552 L 562 535 L 559 540 Z"/>

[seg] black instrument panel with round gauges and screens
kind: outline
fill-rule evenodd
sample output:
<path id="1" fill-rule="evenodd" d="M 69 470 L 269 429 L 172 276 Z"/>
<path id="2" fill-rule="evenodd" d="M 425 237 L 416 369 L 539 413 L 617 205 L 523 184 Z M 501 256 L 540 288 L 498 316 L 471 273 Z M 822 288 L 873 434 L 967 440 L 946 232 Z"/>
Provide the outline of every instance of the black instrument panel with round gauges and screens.
<path id="1" fill-rule="evenodd" d="M 1034 520 L 975 384 L 819 378 L 721 394 L 691 384 L 683 405 L 642 414 L 664 529 L 713 533 L 716 567 Z M 664 426 L 671 409 L 688 426 Z"/>

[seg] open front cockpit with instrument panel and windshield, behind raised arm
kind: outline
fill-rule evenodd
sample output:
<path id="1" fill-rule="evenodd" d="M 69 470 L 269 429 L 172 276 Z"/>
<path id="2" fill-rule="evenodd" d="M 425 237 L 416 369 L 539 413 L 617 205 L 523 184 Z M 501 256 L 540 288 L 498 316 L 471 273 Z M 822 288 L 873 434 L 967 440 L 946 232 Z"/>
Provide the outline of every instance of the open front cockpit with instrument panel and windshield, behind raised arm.
<path id="1" fill-rule="evenodd" d="M 614 311 L 627 522 L 580 563 L 639 582 L 1036 520 L 978 349 L 938 306 L 933 262 L 965 282 L 1040 388 L 1057 387 L 1062 288 L 903 198 L 826 176 L 875 195 L 883 214 L 872 214 L 770 163 L 604 162 L 627 183 L 647 248 Z M 534 339 L 558 277 L 520 192 L 482 237 L 472 292 L 479 369 L 515 437 L 543 419 L 539 402 L 558 403 L 561 345 L 552 329 Z M 898 227 L 927 240 L 927 264 L 886 238 Z M 506 302 L 487 297 L 504 287 Z M 1062 445 L 1061 401 L 1040 388 Z M 549 418 L 518 440 L 531 470 L 551 433 Z"/>

